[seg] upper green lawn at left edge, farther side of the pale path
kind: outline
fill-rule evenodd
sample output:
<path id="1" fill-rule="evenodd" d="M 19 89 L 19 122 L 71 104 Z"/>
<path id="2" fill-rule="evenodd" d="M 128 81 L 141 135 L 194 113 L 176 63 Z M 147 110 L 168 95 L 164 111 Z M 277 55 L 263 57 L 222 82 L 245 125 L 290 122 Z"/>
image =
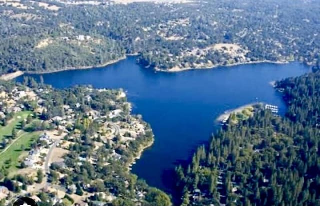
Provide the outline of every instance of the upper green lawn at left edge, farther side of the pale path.
<path id="1" fill-rule="evenodd" d="M 18 132 L 20 121 L 25 119 L 29 114 L 31 114 L 30 111 L 17 112 L 6 126 L 0 126 L 0 142 L 2 142 L 4 138 L 11 136 L 12 128 L 16 128 Z M 0 152 L 1 151 L 2 150 L 0 150 Z"/>

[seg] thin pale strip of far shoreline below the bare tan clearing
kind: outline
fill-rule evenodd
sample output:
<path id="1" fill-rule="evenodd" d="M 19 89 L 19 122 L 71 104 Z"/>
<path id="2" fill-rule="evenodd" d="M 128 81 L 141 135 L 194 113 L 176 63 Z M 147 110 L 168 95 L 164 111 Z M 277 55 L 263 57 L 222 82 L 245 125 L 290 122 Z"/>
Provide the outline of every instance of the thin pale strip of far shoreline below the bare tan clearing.
<path id="1" fill-rule="evenodd" d="M 206 64 L 200 67 L 185 67 L 185 68 L 180 68 L 180 67 L 173 67 L 171 69 L 159 69 L 159 68 L 154 68 L 155 71 L 160 71 L 160 72 L 180 72 L 180 71 L 187 71 L 187 70 L 192 70 L 192 69 L 213 69 L 217 67 L 230 67 L 230 66 L 239 66 L 239 65 L 245 65 L 245 64 L 260 64 L 260 63 L 271 63 L 271 64 L 287 64 L 289 61 L 269 61 L 269 60 L 261 60 L 261 61 L 248 61 L 248 62 L 239 62 L 239 63 L 232 63 L 232 64 Z"/>

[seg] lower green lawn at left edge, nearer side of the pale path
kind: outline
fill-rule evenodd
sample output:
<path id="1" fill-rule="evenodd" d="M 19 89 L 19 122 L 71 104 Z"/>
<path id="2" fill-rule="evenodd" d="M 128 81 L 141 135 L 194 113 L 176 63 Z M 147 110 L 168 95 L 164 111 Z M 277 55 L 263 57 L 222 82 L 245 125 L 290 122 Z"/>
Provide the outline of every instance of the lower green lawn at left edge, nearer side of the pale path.
<path id="1" fill-rule="evenodd" d="M 0 168 L 4 166 L 9 172 L 14 172 L 20 166 L 19 160 L 21 160 L 27 151 L 30 149 L 30 145 L 36 141 L 39 137 L 39 132 L 21 132 L 19 133 L 17 140 L 7 146 L 5 152 L 0 152 Z M 21 145 L 25 148 L 24 151 L 21 151 Z"/>

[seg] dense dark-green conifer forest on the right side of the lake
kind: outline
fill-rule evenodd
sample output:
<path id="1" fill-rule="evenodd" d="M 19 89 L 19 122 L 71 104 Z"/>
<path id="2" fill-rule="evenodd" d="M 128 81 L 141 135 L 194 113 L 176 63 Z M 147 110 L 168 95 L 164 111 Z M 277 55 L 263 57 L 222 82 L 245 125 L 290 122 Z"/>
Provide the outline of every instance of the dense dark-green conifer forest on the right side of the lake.
<path id="1" fill-rule="evenodd" d="M 320 71 L 276 83 L 284 118 L 260 110 L 229 124 L 176 168 L 182 206 L 319 206 Z"/>

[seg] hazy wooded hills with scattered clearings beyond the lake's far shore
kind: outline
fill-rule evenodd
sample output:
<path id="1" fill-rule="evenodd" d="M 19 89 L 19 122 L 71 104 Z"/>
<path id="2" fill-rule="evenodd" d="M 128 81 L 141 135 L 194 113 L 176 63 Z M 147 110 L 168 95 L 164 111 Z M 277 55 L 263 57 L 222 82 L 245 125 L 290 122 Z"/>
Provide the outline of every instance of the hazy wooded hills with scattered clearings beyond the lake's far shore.
<path id="1" fill-rule="evenodd" d="M 302 0 L 0 0 L 0 73 L 103 65 L 133 53 L 161 70 L 263 60 L 314 64 L 319 8 Z"/>

